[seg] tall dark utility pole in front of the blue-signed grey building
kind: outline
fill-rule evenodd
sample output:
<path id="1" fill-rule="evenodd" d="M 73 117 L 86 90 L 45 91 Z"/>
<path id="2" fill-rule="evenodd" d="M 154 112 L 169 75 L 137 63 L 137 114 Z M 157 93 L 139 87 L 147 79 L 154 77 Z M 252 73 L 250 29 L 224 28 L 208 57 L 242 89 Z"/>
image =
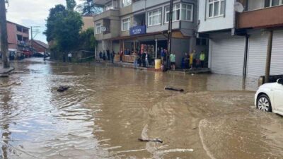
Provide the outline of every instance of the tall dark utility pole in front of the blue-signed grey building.
<path id="1" fill-rule="evenodd" d="M 172 20 L 173 20 L 173 0 L 170 1 L 170 7 L 169 7 L 169 23 L 168 23 L 168 52 L 167 52 L 167 68 L 170 68 L 170 54 L 172 50 Z"/>

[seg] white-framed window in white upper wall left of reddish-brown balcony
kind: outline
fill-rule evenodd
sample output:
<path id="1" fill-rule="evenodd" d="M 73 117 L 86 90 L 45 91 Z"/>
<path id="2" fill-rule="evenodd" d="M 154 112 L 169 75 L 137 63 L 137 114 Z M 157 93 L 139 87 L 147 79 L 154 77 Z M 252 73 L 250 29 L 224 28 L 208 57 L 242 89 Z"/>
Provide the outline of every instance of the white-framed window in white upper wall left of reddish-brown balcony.
<path id="1" fill-rule="evenodd" d="M 208 0 L 209 1 L 209 18 L 216 16 L 224 16 L 225 1 L 224 0 Z"/>

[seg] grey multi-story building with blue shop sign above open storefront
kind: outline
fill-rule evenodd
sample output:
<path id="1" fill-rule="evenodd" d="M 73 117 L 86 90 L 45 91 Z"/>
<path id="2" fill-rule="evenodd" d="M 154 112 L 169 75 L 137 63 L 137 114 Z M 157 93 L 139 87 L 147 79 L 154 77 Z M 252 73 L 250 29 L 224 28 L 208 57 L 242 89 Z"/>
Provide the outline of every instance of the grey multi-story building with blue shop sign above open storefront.
<path id="1" fill-rule="evenodd" d="M 95 0 L 104 6 L 103 13 L 94 16 L 97 52 L 137 50 L 149 52 L 153 59 L 167 49 L 170 0 Z M 206 49 L 207 40 L 195 38 L 197 0 L 173 1 L 172 52 L 176 63 L 192 49 Z M 207 48 L 208 49 L 208 48 Z"/>

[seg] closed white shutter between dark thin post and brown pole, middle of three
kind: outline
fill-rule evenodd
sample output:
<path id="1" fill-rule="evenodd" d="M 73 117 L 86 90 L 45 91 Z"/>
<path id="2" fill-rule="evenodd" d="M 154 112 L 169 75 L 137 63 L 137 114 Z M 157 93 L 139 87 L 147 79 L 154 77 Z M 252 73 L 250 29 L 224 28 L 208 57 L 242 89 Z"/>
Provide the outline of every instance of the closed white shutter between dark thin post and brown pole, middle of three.
<path id="1" fill-rule="evenodd" d="M 250 35 L 248 46 L 248 77 L 265 75 L 268 34 Z"/>

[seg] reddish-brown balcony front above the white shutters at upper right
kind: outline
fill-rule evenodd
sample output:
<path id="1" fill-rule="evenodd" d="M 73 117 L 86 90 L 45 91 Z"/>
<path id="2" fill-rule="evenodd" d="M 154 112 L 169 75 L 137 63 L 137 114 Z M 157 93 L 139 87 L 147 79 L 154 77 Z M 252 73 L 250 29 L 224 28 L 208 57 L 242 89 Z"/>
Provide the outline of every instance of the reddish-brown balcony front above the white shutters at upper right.
<path id="1" fill-rule="evenodd" d="M 238 28 L 270 28 L 283 26 L 283 6 L 273 6 L 238 15 Z"/>

